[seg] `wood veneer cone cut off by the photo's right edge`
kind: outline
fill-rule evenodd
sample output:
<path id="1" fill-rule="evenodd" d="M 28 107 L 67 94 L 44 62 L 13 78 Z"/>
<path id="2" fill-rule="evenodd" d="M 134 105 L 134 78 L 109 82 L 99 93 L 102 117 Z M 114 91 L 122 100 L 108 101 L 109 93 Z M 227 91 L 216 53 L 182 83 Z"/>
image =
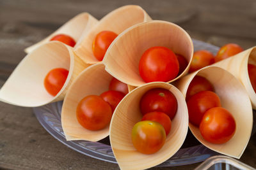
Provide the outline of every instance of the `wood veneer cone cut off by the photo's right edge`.
<path id="1" fill-rule="evenodd" d="M 221 67 L 232 73 L 238 80 L 240 80 L 250 97 L 253 109 L 256 109 L 256 93 L 253 90 L 252 83 L 248 75 L 248 64 L 256 66 L 256 46 L 248 50 L 244 50 L 233 57 L 216 62 L 212 66 Z"/>

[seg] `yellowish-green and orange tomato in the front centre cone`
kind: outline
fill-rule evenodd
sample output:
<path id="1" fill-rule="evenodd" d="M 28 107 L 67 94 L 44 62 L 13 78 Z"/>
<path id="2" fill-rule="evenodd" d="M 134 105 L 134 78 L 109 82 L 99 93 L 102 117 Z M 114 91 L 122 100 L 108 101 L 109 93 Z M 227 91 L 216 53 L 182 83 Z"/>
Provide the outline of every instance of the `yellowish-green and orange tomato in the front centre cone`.
<path id="1" fill-rule="evenodd" d="M 165 139 L 164 127 L 157 122 L 145 120 L 132 128 L 132 143 L 138 152 L 156 153 L 164 145 Z"/>

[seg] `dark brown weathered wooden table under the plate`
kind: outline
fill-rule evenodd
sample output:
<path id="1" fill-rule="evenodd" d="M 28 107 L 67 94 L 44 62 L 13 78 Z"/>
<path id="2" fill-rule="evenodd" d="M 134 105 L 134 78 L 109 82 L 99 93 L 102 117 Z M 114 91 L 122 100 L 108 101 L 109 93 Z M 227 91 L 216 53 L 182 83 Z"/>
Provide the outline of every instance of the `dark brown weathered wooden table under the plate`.
<path id="1" fill-rule="evenodd" d="M 213 45 L 256 45 L 256 1 L 29 1 L 0 0 L 0 87 L 26 55 L 24 48 L 49 35 L 78 13 L 102 18 L 125 4 L 138 4 L 156 20 L 180 25 L 192 38 Z M 31 108 L 0 103 L 0 169 L 118 169 L 54 139 L 38 123 Z M 256 167 L 256 135 L 243 156 Z M 152 169 L 193 169 L 198 164 Z"/>

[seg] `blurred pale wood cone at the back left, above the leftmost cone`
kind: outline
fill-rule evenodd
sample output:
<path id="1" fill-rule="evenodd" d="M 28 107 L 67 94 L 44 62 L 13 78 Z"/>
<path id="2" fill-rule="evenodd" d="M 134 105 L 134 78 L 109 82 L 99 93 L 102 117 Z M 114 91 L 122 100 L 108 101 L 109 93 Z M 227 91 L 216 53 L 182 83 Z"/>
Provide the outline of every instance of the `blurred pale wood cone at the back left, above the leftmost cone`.
<path id="1" fill-rule="evenodd" d="M 92 29 L 92 27 L 94 27 L 94 25 L 97 23 L 98 20 L 92 17 L 92 15 L 89 13 L 80 13 L 62 25 L 59 29 L 54 31 L 51 35 L 47 36 L 47 38 L 39 41 L 35 45 L 29 46 L 24 51 L 26 53 L 30 53 L 31 51 L 35 50 L 35 48 L 42 45 L 43 43 L 50 41 L 51 38 L 58 34 L 66 34 L 72 37 L 76 41 L 74 48 L 78 48 L 88 31 L 90 31 L 90 29 Z"/>

